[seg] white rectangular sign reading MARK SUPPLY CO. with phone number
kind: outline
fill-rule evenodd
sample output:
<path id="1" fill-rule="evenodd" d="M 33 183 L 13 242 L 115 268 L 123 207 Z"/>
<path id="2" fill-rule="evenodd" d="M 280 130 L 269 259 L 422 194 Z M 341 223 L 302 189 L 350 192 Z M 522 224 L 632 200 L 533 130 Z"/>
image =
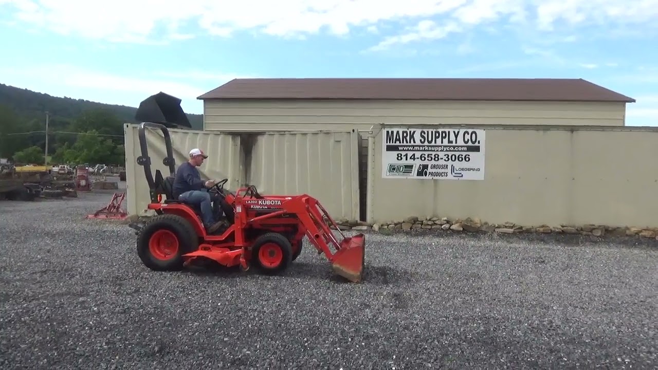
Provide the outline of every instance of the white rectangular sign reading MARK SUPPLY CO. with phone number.
<path id="1" fill-rule="evenodd" d="M 384 128 L 382 177 L 484 180 L 484 130 Z"/>

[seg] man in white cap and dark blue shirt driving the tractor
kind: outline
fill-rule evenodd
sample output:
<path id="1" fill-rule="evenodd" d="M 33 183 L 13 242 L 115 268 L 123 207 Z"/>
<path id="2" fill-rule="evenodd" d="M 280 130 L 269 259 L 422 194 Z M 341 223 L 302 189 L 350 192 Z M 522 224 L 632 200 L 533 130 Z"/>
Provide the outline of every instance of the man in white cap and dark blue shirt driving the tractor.
<path id="1" fill-rule="evenodd" d="M 228 223 L 222 219 L 220 203 L 224 199 L 219 193 L 211 193 L 208 190 L 215 186 L 213 180 L 203 182 L 197 167 L 203 164 L 203 159 L 208 158 L 201 149 L 195 148 L 190 151 L 190 159 L 178 167 L 174 178 L 173 196 L 185 203 L 198 205 L 201 209 L 201 218 L 206 232 L 214 234 L 220 229 L 226 230 Z"/>

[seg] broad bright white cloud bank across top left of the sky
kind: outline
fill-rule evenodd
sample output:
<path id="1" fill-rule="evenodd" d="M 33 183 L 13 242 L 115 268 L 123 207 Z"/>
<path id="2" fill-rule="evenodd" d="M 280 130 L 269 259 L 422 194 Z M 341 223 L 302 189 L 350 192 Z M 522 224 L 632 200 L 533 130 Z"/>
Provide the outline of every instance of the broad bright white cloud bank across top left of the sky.
<path id="1" fill-rule="evenodd" d="M 1 1 L 1 0 L 0 0 Z M 371 26 L 378 20 L 404 16 L 431 16 L 464 3 L 463 0 L 411 0 L 382 3 L 378 0 L 4 0 L 3 13 L 17 20 L 59 34 L 76 34 L 109 41 L 144 41 L 157 34 L 172 34 L 190 25 L 205 33 L 228 36 L 257 29 L 274 36 L 315 33 L 328 28 L 332 34 L 349 33 L 351 26 Z M 1 4 L 1 3 L 0 3 Z M 7 4 L 14 7 L 7 7 Z M 162 27 L 164 26 L 164 28 Z"/>

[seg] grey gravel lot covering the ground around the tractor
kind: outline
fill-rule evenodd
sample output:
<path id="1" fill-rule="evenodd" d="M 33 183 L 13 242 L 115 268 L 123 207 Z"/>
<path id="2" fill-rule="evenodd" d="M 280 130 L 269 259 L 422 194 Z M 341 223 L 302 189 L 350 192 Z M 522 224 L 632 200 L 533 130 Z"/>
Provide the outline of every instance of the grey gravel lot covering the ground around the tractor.
<path id="1" fill-rule="evenodd" d="M 2 369 L 658 365 L 655 240 L 368 235 L 362 284 L 311 248 L 285 277 L 153 273 L 84 219 L 110 197 L 0 201 Z"/>

